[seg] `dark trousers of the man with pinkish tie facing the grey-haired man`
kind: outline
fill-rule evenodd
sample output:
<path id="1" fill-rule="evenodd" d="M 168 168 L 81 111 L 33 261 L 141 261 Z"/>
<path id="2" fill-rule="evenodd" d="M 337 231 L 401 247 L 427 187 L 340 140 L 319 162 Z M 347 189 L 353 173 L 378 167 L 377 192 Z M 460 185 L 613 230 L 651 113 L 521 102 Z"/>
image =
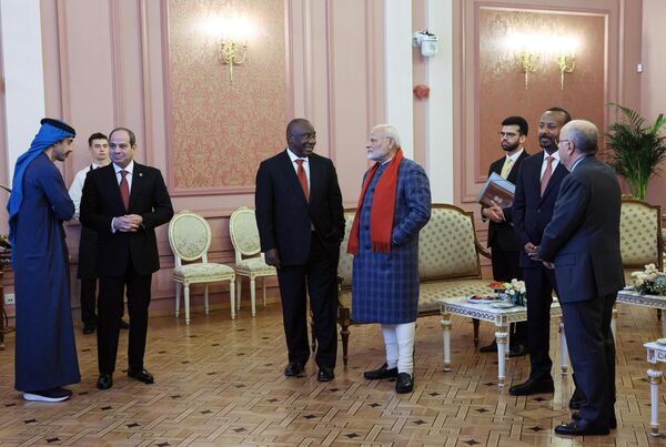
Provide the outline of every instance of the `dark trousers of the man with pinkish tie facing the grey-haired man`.
<path id="1" fill-rule="evenodd" d="M 527 288 L 527 347 L 529 348 L 529 378 L 551 378 L 551 305 L 557 289 L 555 271 L 536 265 L 523 268 Z M 575 369 L 575 368 L 574 368 Z"/>

